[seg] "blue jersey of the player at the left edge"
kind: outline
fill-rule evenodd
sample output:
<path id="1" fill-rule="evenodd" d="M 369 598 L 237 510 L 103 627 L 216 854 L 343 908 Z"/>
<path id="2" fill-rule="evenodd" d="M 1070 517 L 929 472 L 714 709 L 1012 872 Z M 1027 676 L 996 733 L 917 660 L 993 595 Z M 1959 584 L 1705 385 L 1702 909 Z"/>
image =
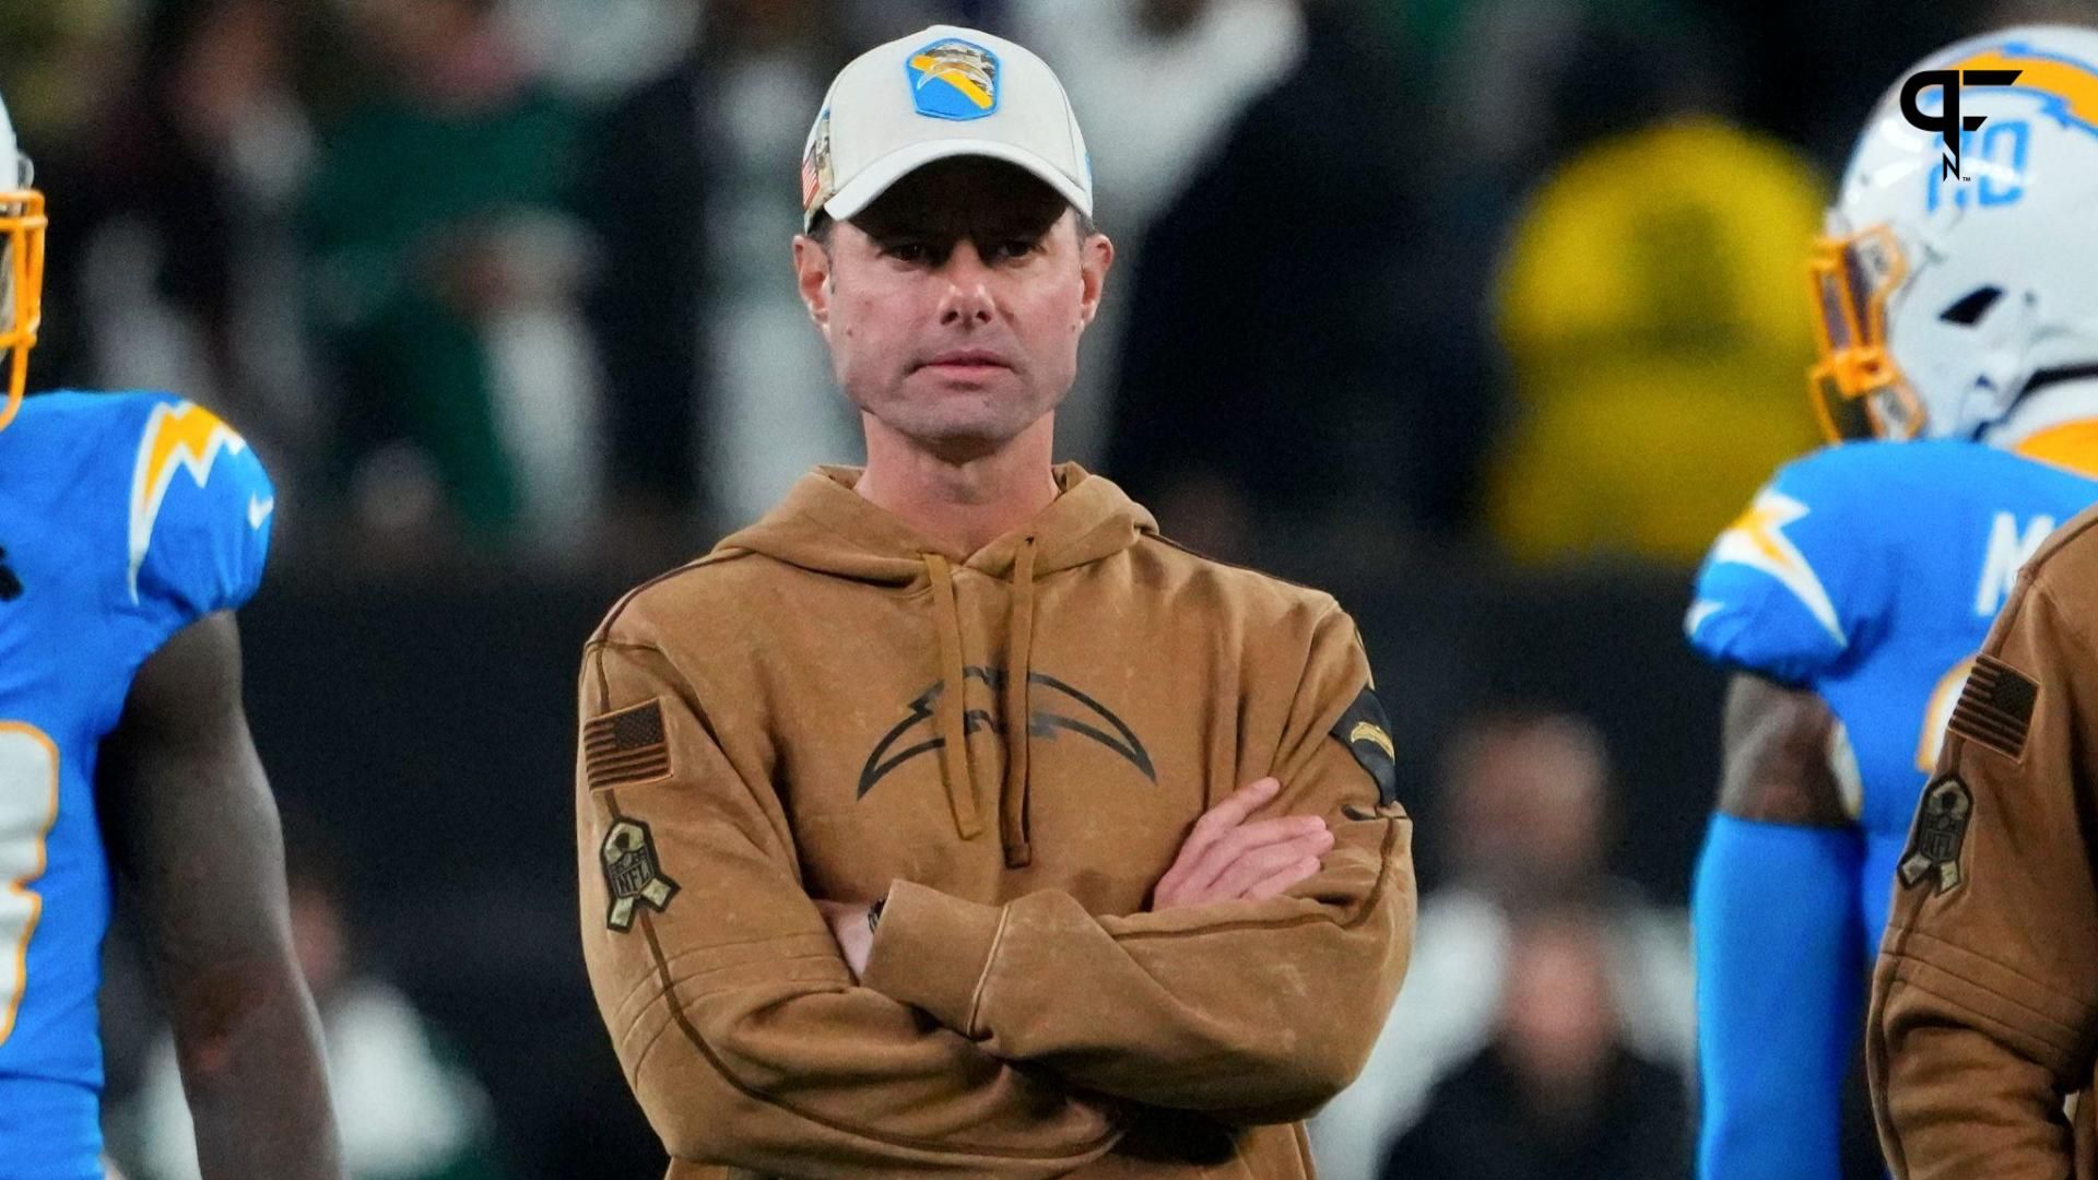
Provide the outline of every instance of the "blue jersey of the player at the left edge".
<path id="1" fill-rule="evenodd" d="M 273 508 L 248 443 L 176 397 L 31 397 L 0 430 L 4 1180 L 103 1174 L 97 747 L 155 649 L 254 594 Z"/>

